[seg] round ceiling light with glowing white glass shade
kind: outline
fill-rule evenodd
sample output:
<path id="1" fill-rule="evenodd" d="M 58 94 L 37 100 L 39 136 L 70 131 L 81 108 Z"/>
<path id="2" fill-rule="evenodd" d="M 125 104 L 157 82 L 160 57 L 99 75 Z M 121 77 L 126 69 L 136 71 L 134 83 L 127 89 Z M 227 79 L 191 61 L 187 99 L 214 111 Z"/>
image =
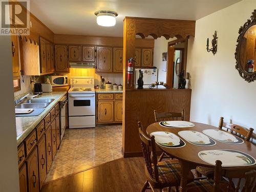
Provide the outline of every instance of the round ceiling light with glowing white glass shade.
<path id="1" fill-rule="evenodd" d="M 96 11 L 97 24 L 104 27 L 111 27 L 116 25 L 117 12 L 114 11 Z"/>

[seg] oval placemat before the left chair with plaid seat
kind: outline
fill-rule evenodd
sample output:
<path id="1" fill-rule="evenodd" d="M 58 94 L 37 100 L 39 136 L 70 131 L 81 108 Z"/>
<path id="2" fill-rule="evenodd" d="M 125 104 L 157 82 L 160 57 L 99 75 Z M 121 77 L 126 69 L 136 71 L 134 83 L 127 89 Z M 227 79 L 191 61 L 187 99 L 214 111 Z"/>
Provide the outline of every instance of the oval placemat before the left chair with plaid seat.
<path id="1" fill-rule="evenodd" d="M 177 135 L 170 132 L 152 132 L 150 135 L 154 135 L 156 142 L 165 147 L 177 148 L 186 145 Z"/>

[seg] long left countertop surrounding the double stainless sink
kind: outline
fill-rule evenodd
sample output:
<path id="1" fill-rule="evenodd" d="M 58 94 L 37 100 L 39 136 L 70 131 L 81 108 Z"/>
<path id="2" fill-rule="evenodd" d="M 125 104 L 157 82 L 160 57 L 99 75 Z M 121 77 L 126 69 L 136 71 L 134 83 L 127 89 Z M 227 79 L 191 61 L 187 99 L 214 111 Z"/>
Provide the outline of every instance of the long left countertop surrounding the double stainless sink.
<path id="1" fill-rule="evenodd" d="M 54 99 L 51 102 L 44 112 L 38 116 L 32 117 L 16 117 L 16 135 L 17 135 L 17 145 L 22 143 L 22 141 L 35 129 L 42 119 L 52 110 L 53 106 L 58 103 L 58 101 L 65 95 L 67 92 L 52 92 L 52 93 L 43 93 L 38 95 L 35 98 L 41 99 Z"/>

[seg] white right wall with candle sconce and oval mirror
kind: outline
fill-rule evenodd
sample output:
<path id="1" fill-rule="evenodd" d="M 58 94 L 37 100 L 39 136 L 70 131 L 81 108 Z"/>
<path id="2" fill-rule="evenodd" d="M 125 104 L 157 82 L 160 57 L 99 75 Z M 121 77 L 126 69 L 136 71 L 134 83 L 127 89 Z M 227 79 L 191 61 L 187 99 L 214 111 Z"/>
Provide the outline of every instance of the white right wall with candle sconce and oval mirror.
<path id="1" fill-rule="evenodd" d="M 196 21 L 196 35 L 189 38 L 187 72 L 191 75 L 190 120 L 218 125 L 226 121 L 253 127 L 256 133 L 256 81 L 248 83 L 235 69 L 238 30 L 256 8 L 244 0 Z M 206 39 L 217 30 L 218 51 L 206 52 Z"/>

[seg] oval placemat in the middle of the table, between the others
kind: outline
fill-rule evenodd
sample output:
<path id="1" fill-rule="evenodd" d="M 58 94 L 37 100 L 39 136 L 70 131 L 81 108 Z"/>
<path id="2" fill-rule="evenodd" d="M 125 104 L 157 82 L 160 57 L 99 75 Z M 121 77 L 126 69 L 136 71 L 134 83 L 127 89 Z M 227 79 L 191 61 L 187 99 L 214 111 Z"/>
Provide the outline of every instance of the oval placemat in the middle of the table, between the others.
<path id="1" fill-rule="evenodd" d="M 216 142 L 204 135 L 203 133 L 197 131 L 180 131 L 178 134 L 187 140 L 189 143 L 199 146 L 212 146 L 215 145 Z"/>

